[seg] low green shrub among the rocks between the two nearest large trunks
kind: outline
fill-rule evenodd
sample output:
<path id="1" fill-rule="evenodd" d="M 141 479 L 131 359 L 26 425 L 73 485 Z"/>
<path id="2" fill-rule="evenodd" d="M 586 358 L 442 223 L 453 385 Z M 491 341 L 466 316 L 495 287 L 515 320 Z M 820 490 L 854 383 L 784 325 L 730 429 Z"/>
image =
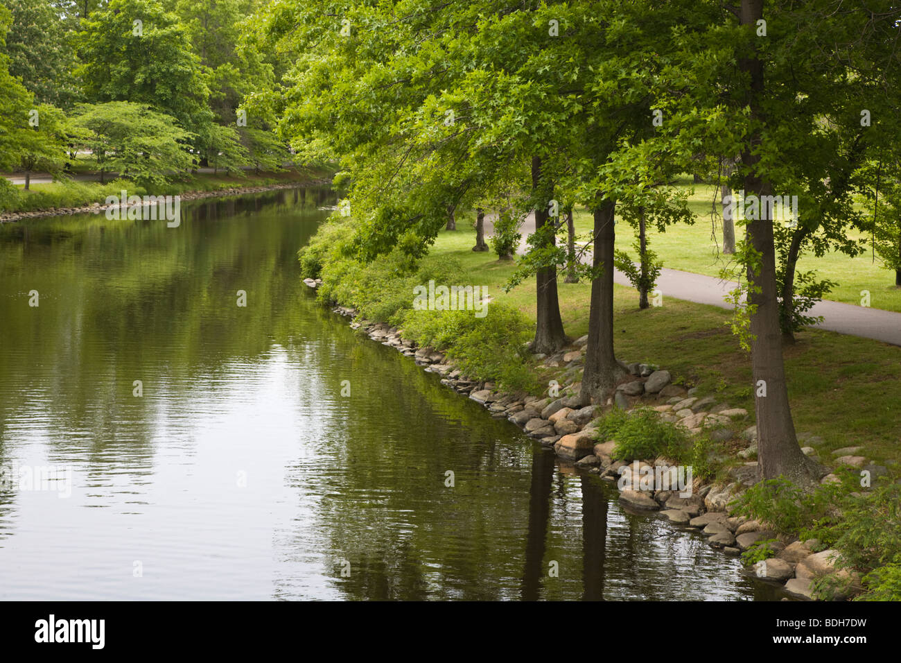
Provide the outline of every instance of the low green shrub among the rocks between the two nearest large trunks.
<path id="1" fill-rule="evenodd" d="M 687 445 L 686 433 L 655 410 L 639 408 L 625 412 L 614 408 L 601 419 L 598 439 L 615 439 L 612 458 L 633 460 L 653 458 Z"/>

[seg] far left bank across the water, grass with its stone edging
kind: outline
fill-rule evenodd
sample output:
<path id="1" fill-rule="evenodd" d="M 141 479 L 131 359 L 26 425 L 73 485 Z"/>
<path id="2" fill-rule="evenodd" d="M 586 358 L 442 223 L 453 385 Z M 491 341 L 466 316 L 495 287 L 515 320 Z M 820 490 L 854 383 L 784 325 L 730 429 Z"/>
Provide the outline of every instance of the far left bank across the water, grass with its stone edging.
<path id="1" fill-rule="evenodd" d="M 294 189 L 298 186 L 331 184 L 331 174 L 324 170 L 289 169 L 280 172 L 246 174 L 243 177 L 226 175 L 197 175 L 188 180 L 170 182 L 153 189 L 155 196 L 179 196 L 183 201 L 200 198 L 236 196 L 247 193 L 277 189 Z M 71 216 L 76 214 L 99 213 L 110 205 L 105 204 L 107 196 L 119 196 L 122 190 L 136 196 L 150 195 L 148 189 L 136 186 L 128 180 L 114 180 L 106 184 L 95 182 L 56 182 L 35 185 L 29 192 L 20 192 L 16 204 L 10 211 L 0 213 L 0 223 L 22 221 L 46 216 Z M 64 201 L 65 205 L 56 204 Z M 15 209 L 14 207 L 22 207 Z"/>

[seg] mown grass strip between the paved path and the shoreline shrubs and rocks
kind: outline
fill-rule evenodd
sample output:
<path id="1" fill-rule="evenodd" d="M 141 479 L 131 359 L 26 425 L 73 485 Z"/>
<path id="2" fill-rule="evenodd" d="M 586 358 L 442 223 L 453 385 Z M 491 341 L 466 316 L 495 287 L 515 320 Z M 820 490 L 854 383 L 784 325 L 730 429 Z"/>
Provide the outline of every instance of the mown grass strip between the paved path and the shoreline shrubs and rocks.
<path id="1" fill-rule="evenodd" d="M 505 293 L 502 287 L 514 264 L 498 261 L 495 253 L 471 250 L 475 234 L 468 224 L 443 231 L 426 260 L 445 256 L 460 261 L 461 284 L 487 286 L 494 301 L 519 308 L 535 318 L 534 279 Z M 560 315 L 572 338 L 587 333 L 590 285 L 559 281 Z M 489 308 L 490 310 L 490 308 Z M 614 285 L 616 355 L 626 362 L 658 364 L 675 382 L 698 386 L 733 407 L 748 410 L 742 428 L 753 423 L 751 359 L 742 351 L 727 323 L 730 312 L 680 299 L 664 306 L 638 308 L 638 293 Z M 798 434 L 817 436 L 820 457 L 830 450 L 863 446 L 878 464 L 901 461 L 901 347 L 819 329 L 797 335 L 785 351 L 789 399 Z"/>

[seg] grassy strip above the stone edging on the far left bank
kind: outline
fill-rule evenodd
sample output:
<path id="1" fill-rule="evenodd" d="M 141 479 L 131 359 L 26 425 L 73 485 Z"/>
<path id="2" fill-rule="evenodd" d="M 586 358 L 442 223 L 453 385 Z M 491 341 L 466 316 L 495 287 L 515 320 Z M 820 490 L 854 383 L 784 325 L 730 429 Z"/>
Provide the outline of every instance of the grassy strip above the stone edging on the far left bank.
<path id="1" fill-rule="evenodd" d="M 195 191 L 219 191 L 223 189 L 262 187 L 272 184 L 297 182 L 302 184 L 313 180 L 330 178 L 331 172 L 324 169 L 291 168 L 278 172 L 246 172 L 235 175 L 225 173 L 196 173 L 168 184 L 144 187 L 130 180 L 113 180 L 100 184 L 77 180 L 60 180 L 50 183 L 32 184 L 25 191 L 18 186 L 12 195 L 0 205 L 0 213 L 32 212 L 59 207 L 83 207 L 105 202 L 107 196 L 118 196 L 123 189 L 129 195 L 175 196 Z M 150 190 L 152 189 L 152 190 Z"/>

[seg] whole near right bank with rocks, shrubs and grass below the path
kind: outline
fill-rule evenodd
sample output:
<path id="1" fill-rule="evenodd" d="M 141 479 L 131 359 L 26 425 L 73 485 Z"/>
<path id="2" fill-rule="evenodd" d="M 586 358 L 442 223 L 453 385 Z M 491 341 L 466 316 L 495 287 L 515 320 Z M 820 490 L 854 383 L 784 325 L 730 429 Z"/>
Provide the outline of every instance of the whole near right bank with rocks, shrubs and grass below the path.
<path id="1" fill-rule="evenodd" d="M 298 258 L 305 283 L 351 327 L 440 374 L 563 462 L 615 482 L 630 511 L 701 529 L 710 546 L 741 556 L 747 573 L 796 598 L 901 598 L 901 423 L 881 414 L 901 396 L 890 346 L 814 329 L 799 335 L 786 353 L 789 395 L 803 452 L 824 477 L 812 491 L 759 482 L 750 359 L 725 311 L 676 299 L 640 310 L 635 290 L 615 286 L 616 354 L 633 363 L 612 397 L 583 406 L 589 283 L 559 280 L 563 322 L 581 336 L 533 355 L 535 285 L 503 289 L 513 262 L 472 251 L 469 232 L 452 230 L 419 260 L 394 251 L 364 264 L 336 248 L 347 223 L 332 216 Z M 414 289 L 430 281 L 481 285 L 490 315 L 414 308 Z M 841 364 L 826 364 L 836 356 Z M 660 485 L 661 474 L 686 467 L 689 495 Z"/>

